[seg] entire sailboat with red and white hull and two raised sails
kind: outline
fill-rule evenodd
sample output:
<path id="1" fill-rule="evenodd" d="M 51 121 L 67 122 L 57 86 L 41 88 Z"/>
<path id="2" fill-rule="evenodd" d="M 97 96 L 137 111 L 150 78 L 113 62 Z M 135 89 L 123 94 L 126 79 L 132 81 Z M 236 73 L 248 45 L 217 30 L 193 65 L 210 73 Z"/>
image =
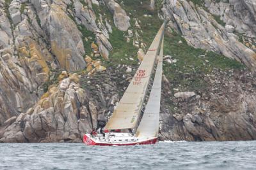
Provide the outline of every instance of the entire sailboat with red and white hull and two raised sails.
<path id="1" fill-rule="evenodd" d="M 157 142 L 163 67 L 163 36 L 166 21 L 152 41 L 124 96 L 109 118 L 104 134 L 84 134 L 86 145 L 147 145 Z M 156 66 L 157 65 L 157 66 Z M 154 68 L 156 67 L 156 71 Z M 150 78 L 154 81 L 142 115 Z M 141 118 L 142 115 L 142 118 Z M 112 132 L 118 130 L 119 132 Z"/>

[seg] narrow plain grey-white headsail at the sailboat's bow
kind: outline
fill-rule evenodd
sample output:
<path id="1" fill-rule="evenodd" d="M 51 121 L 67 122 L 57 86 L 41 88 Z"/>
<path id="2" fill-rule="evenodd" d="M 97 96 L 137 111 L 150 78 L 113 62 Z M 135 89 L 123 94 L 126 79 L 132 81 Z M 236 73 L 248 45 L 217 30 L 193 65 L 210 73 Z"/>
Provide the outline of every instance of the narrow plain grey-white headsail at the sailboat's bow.
<path id="1" fill-rule="evenodd" d="M 159 53 L 156 74 L 152 85 L 152 90 L 148 98 L 148 103 L 145 108 L 140 125 L 136 131 L 136 137 L 150 138 L 157 137 L 159 131 L 159 112 L 161 100 L 161 82 L 163 69 L 163 40 Z"/>

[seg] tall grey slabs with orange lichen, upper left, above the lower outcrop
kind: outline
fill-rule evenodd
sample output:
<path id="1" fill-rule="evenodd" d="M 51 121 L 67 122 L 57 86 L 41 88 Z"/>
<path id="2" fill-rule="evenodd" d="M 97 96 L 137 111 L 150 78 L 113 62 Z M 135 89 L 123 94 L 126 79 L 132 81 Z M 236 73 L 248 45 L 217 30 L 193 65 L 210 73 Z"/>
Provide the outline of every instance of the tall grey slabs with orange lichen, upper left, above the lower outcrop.
<path id="1" fill-rule="evenodd" d="M 88 6 L 61 0 L 0 2 L 0 126 L 40 99 L 56 76 L 52 70 L 86 67 L 80 27 L 96 34 L 99 52 L 108 59 L 113 49 L 108 31 L 103 34 L 104 24 L 96 24 L 91 1 L 85 3 Z"/>

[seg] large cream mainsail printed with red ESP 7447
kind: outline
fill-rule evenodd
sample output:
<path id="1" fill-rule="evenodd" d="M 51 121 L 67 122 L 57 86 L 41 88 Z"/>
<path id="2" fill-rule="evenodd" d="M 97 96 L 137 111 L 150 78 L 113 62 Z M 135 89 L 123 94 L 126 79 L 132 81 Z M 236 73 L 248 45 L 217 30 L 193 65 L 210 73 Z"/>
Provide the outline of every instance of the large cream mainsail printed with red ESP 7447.
<path id="1" fill-rule="evenodd" d="M 120 99 L 104 129 L 129 129 L 136 126 L 147 91 L 148 81 L 163 38 L 164 27 L 165 23 L 157 32 L 131 83 L 125 90 L 124 96 Z"/>

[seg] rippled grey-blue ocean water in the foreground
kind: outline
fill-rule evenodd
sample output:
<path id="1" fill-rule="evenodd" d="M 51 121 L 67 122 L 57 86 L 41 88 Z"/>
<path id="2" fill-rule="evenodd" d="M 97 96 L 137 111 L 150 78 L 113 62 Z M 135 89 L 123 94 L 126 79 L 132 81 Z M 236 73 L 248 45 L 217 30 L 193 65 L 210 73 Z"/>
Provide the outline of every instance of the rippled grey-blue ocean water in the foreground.
<path id="1" fill-rule="evenodd" d="M 2 143 L 0 169 L 256 169 L 256 141 L 136 146 Z"/>

